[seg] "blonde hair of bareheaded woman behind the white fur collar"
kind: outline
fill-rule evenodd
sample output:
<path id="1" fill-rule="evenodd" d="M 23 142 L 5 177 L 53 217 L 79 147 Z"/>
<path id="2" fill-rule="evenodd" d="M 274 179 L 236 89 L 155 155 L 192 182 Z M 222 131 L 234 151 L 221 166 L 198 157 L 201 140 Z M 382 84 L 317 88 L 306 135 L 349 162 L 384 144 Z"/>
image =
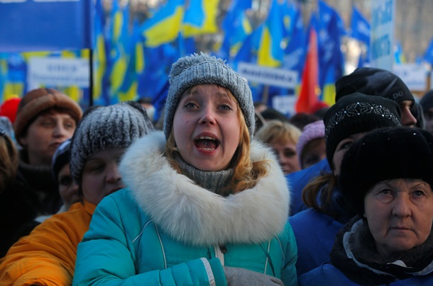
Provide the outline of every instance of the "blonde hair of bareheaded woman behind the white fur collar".
<path id="1" fill-rule="evenodd" d="M 292 142 L 296 144 L 301 136 L 301 130 L 289 122 L 281 120 L 270 120 L 263 125 L 255 137 L 264 143 Z"/>

